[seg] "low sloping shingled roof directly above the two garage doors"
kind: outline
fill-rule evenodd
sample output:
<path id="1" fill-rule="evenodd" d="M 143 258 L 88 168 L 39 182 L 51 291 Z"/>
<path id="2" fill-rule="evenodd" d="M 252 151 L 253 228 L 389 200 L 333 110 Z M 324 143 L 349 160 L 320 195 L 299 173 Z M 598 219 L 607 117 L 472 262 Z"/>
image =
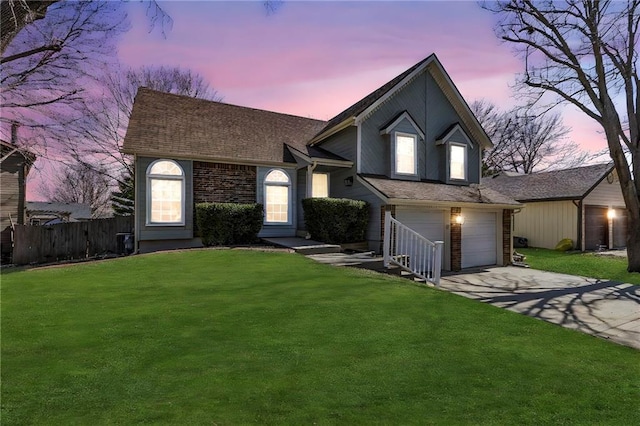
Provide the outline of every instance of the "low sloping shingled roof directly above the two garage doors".
<path id="1" fill-rule="evenodd" d="M 428 204 L 486 204 L 517 208 L 520 203 L 482 185 L 457 186 L 432 182 L 415 182 L 360 176 L 388 200 L 406 200 Z"/>

